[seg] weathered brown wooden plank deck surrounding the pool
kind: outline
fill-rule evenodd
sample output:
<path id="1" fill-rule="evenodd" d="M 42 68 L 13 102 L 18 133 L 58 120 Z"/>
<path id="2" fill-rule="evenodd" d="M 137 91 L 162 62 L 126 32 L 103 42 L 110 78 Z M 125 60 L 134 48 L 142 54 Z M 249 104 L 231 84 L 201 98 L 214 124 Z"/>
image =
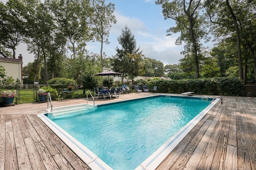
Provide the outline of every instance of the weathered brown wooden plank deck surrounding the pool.
<path id="1" fill-rule="evenodd" d="M 154 94 L 129 94 L 95 103 L 147 95 Z M 204 116 L 157 169 L 256 169 L 256 98 L 223 97 L 223 102 Z M 79 103 L 86 101 L 53 105 Z M 46 107 L 47 103 L 0 107 L 0 170 L 90 169 L 37 117 Z"/>

